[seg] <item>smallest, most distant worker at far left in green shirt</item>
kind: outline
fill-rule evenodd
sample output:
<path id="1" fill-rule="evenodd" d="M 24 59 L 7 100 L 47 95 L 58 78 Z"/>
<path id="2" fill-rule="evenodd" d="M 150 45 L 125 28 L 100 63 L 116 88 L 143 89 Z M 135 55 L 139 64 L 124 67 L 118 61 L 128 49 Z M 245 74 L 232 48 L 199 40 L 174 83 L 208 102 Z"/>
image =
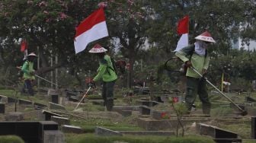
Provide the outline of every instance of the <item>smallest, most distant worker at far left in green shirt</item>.
<path id="1" fill-rule="evenodd" d="M 23 72 L 23 80 L 24 80 L 24 88 L 22 89 L 22 92 L 30 94 L 31 96 L 34 96 L 34 90 L 32 86 L 32 82 L 35 79 L 35 70 L 34 70 L 34 59 L 37 58 L 37 55 L 34 54 L 34 52 L 31 52 L 27 56 L 27 60 L 24 62 L 24 64 L 21 67 L 21 71 Z"/>

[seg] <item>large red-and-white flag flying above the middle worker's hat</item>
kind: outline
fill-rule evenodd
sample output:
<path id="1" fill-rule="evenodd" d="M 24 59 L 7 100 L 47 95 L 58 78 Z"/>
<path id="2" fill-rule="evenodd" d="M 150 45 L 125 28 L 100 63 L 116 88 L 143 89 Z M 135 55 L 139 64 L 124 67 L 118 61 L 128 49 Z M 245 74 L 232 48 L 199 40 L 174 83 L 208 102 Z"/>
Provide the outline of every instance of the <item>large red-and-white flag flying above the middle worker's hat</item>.
<path id="1" fill-rule="evenodd" d="M 85 18 L 76 28 L 74 40 L 75 54 L 82 52 L 86 46 L 88 46 L 88 43 L 107 36 L 108 32 L 104 9 L 99 8 Z"/>

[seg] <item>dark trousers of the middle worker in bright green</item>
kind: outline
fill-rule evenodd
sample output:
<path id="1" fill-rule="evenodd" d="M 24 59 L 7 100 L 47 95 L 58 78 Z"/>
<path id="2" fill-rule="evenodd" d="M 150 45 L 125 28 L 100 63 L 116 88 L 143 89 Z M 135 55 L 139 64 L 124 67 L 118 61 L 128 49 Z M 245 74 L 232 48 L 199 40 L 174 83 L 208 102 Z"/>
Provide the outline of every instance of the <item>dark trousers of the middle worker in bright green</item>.
<path id="1" fill-rule="evenodd" d="M 107 106 L 107 110 L 112 110 L 114 106 L 114 84 L 116 81 L 104 81 L 102 87 L 102 98 L 104 105 Z"/>

